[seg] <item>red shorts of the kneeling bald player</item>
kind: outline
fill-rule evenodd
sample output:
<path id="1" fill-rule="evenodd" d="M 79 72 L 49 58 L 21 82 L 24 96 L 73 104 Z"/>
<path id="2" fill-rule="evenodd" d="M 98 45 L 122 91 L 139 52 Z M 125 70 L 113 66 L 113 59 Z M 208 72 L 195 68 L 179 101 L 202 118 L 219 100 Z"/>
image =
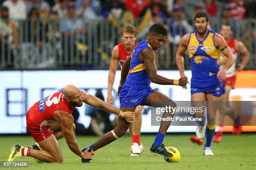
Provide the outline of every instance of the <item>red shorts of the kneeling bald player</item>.
<path id="1" fill-rule="evenodd" d="M 45 140 L 49 136 L 51 136 L 52 132 L 50 130 L 50 125 L 44 126 L 41 124 L 34 124 L 29 121 L 29 111 L 27 114 L 27 129 L 29 133 L 32 135 L 36 142 L 40 142 L 41 140 Z"/>

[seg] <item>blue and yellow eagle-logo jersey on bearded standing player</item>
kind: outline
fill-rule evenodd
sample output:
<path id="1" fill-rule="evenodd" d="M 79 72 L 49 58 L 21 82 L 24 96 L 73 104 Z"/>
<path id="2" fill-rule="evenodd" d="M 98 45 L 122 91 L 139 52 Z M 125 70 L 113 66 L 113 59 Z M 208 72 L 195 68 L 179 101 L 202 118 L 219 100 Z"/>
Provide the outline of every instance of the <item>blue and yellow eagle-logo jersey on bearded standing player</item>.
<path id="1" fill-rule="evenodd" d="M 211 87 L 220 83 L 217 78 L 219 67 L 217 59 L 220 57 L 220 50 L 214 42 L 214 31 L 207 30 L 204 40 L 197 39 L 197 32 L 190 32 L 187 49 L 191 62 L 193 87 Z"/>

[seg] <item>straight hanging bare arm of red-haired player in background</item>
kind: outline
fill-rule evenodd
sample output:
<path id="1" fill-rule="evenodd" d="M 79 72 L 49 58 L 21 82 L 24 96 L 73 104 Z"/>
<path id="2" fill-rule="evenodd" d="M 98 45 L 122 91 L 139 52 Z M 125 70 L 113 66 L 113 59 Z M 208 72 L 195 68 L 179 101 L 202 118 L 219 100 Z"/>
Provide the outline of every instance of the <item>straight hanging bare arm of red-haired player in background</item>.
<path id="1" fill-rule="evenodd" d="M 114 97 L 112 95 L 112 88 L 115 80 L 115 72 L 118 68 L 118 46 L 116 45 L 112 50 L 112 57 L 110 60 L 110 67 L 108 71 L 108 97 L 107 102 L 113 103 Z"/>

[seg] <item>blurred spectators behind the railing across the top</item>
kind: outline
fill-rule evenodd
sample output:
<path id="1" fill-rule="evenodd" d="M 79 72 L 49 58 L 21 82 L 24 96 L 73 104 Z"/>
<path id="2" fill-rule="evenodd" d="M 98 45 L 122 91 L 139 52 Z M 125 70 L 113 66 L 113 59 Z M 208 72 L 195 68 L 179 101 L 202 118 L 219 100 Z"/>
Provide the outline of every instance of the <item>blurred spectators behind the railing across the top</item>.
<path id="1" fill-rule="evenodd" d="M 194 30 L 194 15 L 206 11 L 210 29 L 233 26 L 234 37 L 256 64 L 256 0 L 0 0 L 0 69 L 105 69 L 120 29 L 135 25 L 137 41 L 154 23 L 168 37 L 157 52 L 160 69 L 176 69 L 175 52 Z M 185 61 L 189 68 L 189 60 Z"/>

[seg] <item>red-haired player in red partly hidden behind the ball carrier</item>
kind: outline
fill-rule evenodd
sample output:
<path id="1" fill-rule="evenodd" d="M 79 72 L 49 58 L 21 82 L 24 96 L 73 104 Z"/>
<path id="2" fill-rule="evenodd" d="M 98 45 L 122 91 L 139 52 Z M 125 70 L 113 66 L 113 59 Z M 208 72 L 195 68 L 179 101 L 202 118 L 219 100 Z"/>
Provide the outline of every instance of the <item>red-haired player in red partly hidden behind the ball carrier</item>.
<path id="1" fill-rule="evenodd" d="M 123 62 L 129 57 L 134 47 L 138 44 L 136 41 L 137 30 L 132 25 L 125 25 L 121 30 L 121 40 L 118 45 L 116 45 L 112 50 L 112 57 L 110 61 L 110 69 L 108 72 L 108 97 L 107 102 L 113 103 L 114 97 L 112 95 L 113 83 L 115 80 L 115 72 L 119 64 L 123 65 Z M 132 135 L 132 144 L 131 144 L 131 156 L 140 155 L 143 152 L 143 145 L 140 142 L 141 134 L 141 123 L 142 123 L 142 112 L 143 106 L 139 105 L 134 111 L 135 117 L 134 122 L 130 125 L 129 131 Z"/>

